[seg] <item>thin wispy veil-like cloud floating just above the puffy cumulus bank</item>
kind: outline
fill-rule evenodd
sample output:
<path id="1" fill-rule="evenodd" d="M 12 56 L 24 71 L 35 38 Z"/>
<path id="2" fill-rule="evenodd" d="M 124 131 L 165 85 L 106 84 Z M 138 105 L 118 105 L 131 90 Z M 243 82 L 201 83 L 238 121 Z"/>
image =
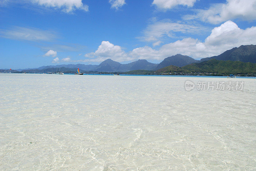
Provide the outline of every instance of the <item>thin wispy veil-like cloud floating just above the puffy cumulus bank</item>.
<path id="1" fill-rule="evenodd" d="M 143 36 L 138 37 L 142 41 L 157 41 L 166 40 L 168 38 L 177 38 L 176 33 L 190 33 L 190 34 L 202 34 L 207 31 L 208 28 L 201 26 L 197 23 L 184 23 L 181 21 L 173 22 L 169 19 L 157 21 L 147 26 L 143 31 Z M 156 43 L 157 45 L 157 43 Z"/>

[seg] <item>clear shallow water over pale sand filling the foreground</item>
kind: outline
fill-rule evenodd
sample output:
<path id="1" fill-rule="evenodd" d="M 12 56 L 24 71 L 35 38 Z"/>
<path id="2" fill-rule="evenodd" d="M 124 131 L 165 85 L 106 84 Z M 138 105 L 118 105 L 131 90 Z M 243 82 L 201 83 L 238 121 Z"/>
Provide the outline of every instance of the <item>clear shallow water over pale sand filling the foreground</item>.
<path id="1" fill-rule="evenodd" d="M 0 170 L 256 170 L 256 79 L 187 79 L 0 74 Z"/>

